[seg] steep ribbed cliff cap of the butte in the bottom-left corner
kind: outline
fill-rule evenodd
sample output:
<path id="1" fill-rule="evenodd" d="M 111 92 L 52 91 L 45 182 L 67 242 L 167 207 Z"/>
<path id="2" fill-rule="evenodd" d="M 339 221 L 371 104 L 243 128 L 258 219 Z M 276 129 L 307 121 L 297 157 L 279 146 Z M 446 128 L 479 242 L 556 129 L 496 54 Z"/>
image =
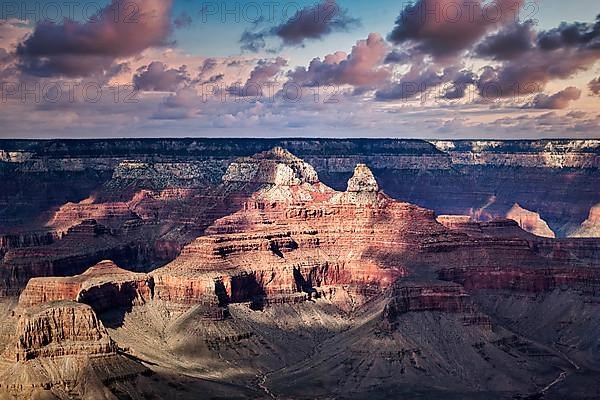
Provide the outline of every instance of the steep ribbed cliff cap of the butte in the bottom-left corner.
<path id="1" fill-rule="evenodd" d="M 66 355 L 107 355 L 117 348 L 92 308 L 54 302 L 26 310 L 17 327 L 14 360 Z"/>

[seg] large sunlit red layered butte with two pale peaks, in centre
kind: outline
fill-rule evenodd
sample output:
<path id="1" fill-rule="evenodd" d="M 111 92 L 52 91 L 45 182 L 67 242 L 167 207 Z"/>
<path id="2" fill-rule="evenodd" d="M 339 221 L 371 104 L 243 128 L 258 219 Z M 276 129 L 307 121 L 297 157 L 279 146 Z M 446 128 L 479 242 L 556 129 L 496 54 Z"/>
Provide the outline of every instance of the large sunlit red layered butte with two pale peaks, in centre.
<path id="1" fill-rule="evenodd" d="M 264 168 L 266 175 L 257 174 Z M 224 179 L 242 183 L 261 176 L 270 183 L 152 274 L 157 298 L 203 303 L 220 288 L 223 303 L 292 297 L 322 286 L 385 288 L 407 273 L 405 262 L 429 238 L 448 233 L 433 212 L 378 192 L 364 165 L 347 192 L 314 181 L 310 171 L 281 151 L 256 164 L 244 159 L 230 170 Z"/>

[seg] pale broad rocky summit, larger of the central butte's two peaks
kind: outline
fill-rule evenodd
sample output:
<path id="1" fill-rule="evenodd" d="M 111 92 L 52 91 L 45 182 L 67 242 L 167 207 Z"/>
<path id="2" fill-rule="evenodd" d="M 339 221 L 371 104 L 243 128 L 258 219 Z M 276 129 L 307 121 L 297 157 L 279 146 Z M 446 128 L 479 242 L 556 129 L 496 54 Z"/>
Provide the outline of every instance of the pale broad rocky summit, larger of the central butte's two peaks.
<path id="1" fill-rule="evenodd" d="M 310 164 L 281 147 L 275 147 L 231 163 L 223 182 L 296 186 L 318 183 L 319 177 Z"/>

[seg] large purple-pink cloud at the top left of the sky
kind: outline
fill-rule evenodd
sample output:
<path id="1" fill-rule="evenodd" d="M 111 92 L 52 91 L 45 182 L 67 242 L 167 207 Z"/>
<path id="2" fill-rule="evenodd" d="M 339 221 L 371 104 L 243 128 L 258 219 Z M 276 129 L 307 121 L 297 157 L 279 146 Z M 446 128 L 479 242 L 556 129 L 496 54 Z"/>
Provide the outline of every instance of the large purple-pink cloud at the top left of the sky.
<path id="1" fill-rule="evenodd" d="M 39 22 L 17 48 L 22 71 L 36 76 L 101 75 L 118 58 L 167 44 L 171 0 L 112 0 L 90 21 Z M 118 17 L 115 17 L 118 16 Z"/>

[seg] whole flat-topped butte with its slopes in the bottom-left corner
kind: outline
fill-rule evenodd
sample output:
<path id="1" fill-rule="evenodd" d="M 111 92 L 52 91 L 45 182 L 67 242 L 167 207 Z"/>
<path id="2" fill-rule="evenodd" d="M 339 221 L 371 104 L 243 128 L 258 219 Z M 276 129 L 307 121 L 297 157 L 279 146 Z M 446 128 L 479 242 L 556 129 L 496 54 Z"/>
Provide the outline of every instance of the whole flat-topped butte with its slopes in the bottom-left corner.
<path id="1" fill-rule="evenodd" d="M 54 301 L 27 308 L 2 355 L 12 363 L 0 371 L 0 397 L 108 400 L 115 387 L 139 392 L 132 386 L 148 370 L 118 352 L 88 305 Z"/>

